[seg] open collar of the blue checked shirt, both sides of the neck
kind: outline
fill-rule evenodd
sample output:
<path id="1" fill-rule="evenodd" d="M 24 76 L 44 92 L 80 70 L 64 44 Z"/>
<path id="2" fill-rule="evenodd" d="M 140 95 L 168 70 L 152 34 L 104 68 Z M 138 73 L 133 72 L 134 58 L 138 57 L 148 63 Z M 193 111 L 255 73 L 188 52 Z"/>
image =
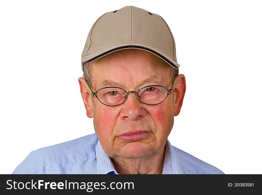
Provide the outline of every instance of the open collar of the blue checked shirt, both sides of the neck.
<path id="1" fill-rule="evenodd" d="M 181 174 L 175 151 L 169 142 L 165 145 L 165 159 L 162 174 Z M 103 150 L 99 140 L 96 145 L 96 174 L 118 174 L 109 156 Z"/>

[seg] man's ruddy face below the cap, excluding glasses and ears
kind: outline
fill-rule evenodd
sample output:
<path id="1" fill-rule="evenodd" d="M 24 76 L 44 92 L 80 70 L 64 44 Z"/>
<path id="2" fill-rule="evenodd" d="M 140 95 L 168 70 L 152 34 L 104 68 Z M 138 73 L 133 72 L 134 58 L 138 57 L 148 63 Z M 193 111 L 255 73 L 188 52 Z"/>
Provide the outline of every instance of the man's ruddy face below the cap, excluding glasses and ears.
<path id="1" fill-rule="evenodd" d="M 173 82 L 170 71 L 170 65 L 152 53 L 119 50 L 93 62 L 93 91 L 109 86 L 138 91 L 147 85 L 170 89 Z M 147 82 L 143 82 L 145 79 Z M 171 95 L 160 104 L 146 105 L 135 93 L 129 93 L 123 104 L 109 107 L 95 98 L 94 129 L 105 153 L 112 158 L 139 158 L 163 151 L 174 123 L 172 102 Z"/>

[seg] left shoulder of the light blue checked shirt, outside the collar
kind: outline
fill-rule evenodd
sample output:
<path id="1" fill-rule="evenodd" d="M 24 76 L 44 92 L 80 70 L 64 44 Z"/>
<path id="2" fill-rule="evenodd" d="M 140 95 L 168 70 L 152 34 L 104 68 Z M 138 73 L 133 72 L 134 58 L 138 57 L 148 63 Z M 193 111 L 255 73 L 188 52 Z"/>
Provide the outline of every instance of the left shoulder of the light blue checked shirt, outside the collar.
<path id="1" fill-rule="evenodd" d="M 96 161 L 96 134 L 32 151 L 12 174 L 78 174 Z M 90 162 L 91 161 L 91 162 Z"/>

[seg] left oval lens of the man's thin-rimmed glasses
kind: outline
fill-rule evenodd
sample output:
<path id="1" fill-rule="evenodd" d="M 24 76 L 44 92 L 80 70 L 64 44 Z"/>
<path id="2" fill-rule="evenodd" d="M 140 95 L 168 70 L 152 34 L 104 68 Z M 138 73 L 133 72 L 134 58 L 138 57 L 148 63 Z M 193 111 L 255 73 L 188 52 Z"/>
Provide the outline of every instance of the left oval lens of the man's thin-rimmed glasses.
<path id="1" fill-rule="evenodd" d="M 127 92 L 123 89 L 109 87 L 97 91 L 96 96 L 100 102 L 107 106 L 116 106 L 125 101 Z"/>

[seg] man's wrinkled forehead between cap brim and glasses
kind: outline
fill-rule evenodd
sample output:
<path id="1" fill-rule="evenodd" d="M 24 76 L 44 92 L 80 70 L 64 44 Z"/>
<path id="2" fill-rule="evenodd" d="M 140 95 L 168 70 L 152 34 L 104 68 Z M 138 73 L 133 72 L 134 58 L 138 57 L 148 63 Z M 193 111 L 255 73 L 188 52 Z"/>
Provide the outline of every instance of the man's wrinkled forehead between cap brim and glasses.
<path id="1" fill-rule="evenodd" d="M 162 85 L 170 70 L 170 65 L 163 59 L 139 49 L 113 52 L 93 61 L 92 66 L 91 76 L 98 88 L 139 87 L 146 83 Z"/>

